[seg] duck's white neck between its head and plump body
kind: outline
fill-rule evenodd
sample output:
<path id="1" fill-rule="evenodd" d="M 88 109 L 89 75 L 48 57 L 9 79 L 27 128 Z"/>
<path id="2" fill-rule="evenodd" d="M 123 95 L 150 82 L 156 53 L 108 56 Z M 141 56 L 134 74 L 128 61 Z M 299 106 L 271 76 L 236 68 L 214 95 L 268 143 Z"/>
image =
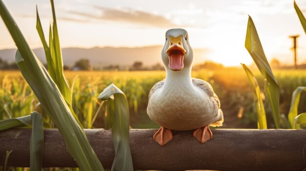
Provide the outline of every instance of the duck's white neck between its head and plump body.
<path id="1" fill-rule="evenodd" d="M 181 71 L 172 71 L 166 68 L 165 86 L 191 86 L 191 67 L 186 67 Z"/>

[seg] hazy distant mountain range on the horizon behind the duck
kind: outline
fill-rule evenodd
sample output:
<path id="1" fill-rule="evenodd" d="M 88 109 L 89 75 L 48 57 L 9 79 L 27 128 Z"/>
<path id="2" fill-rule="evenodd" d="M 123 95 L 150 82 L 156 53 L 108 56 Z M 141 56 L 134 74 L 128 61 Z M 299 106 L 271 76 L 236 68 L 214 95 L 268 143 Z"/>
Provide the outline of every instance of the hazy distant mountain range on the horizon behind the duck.
<path id="1" fill-rule="evenodd" d="M 75 61 L 85 58 L 89 59 L 93 67 L 103 67 L 108 65 L 131 66 L 135 61 L 141 61 L 144 66 L 162 63 L 161 61 L 162 46 L 147 47 L 94 47 L 94 48 L 63 48 L 64 65 L 73 66 Z M 46 63 L 44 49 L 38 48 L 33 50 L 37 57 L 43 63 Z M 195 63 L 203 62 L 209 51 L 205 49 L 194 49 Z M 15 61 L 16 49 L 0 50 L 0 58 L 8 62 Z"/>

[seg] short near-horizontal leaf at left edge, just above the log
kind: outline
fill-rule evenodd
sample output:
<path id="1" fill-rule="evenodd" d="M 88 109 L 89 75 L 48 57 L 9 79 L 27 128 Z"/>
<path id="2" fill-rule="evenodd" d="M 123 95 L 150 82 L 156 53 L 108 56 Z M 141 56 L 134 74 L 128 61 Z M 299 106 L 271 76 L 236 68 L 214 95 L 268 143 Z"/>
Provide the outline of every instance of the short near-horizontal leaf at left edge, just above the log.
<path id="1" fill-rule="evenodd" d="M 26 115 L 17 118 L 10 118 L 0 121 L 0 131 L 8 130 L 16 127 L 24 127 L 32 125 L 31 115 Z"/>

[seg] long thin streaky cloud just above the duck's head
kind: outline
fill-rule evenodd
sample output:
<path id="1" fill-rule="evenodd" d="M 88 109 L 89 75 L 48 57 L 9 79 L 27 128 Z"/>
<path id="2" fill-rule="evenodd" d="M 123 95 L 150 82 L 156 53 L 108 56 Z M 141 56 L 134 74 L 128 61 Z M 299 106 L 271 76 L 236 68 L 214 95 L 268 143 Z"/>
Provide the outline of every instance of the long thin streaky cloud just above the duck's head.
<path id="1" fill-rule="evenodd" d="M 78 11 L 69 11 L 69 13 L 86 17 L 89 19 L 123 21 L 135 24 L 150 25 L 153 27 L 161 27 L 161 28 L 181 26 L 173 23 L 171 19 L 167 19 L 163 16 L 144 11 L 133 10 L 133 9 L 113 9 L 113 8 L 105 8 L 100 6 L 94 6 L 94 8 L 101 10 L 101 15 L 93 15 Z"/>

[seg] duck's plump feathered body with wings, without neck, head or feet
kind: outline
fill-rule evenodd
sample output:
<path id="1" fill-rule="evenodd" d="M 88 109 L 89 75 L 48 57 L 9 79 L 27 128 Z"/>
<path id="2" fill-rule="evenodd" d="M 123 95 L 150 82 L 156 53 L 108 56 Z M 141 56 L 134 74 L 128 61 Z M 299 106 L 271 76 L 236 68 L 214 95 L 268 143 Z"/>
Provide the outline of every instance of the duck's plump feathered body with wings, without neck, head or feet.
<path id="1" fill-rule="evenodd" d="M 147 113 L 171 130 L 194 130 L 205 125 L 222 126 L 218 96 L 204 80 L 163 80 L 152 88 Z"/>

